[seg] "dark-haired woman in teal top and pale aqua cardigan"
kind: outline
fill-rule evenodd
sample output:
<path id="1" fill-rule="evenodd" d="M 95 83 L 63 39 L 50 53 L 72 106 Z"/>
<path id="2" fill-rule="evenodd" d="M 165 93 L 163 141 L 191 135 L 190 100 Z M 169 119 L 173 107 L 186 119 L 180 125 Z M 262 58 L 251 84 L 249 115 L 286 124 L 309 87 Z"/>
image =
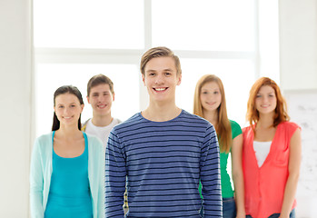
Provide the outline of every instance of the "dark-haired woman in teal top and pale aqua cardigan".
<path id="1" fill-rule="evenodd" d="M 35 140 L 31 159 L 32 218 L 104 217 L 103 144 L 80 131 L 83 108 L 76 87 L 55 91 L 53 132 Z"/>

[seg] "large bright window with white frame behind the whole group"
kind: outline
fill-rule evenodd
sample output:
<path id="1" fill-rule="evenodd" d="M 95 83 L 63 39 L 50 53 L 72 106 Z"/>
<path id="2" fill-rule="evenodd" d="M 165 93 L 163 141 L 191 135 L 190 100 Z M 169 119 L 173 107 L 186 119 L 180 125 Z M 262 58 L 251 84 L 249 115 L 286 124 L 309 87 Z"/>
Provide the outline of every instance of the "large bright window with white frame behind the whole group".
<path id="1" fill-rule="evenodd" d="M 143 110 L 148 99 L 139 62 L 153 46 L 170 47 L 180 57 L 176 99 L 188 112 L 197 80 L 216 74 L 229 117 L 244 125 L 254 79 L 279 78 L 272 0 L 34 0 L 34 19 L 36 136 L 51 128 L 54 90 L 73 84 L 85 96 L 94 74 L 114 81 L 115 117 L 125 120 Z M 92 115 L 84 103 L 83 121 Z"/>

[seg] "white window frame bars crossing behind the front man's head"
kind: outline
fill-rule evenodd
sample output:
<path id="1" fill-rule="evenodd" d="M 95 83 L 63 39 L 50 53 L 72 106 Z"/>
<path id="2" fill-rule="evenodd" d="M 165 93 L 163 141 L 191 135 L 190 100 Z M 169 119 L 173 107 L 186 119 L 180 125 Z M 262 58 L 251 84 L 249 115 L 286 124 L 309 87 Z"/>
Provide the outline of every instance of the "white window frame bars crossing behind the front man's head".
<path id="1" fill-rule="evenodd" d="M 261 75 L 260 40 L 259 40 L 259 3 L 254 0 L 254 51 L 193 51 L 173 50 L 180 58 L 203 59 L 245 59 L 253 63 L 254 78 Z M 50 48 L 35 47 L 35 71 L 37 64 L 135 64 L 139 68 L 140 59 L 152 45 L 152 0 L 144 0 L 144 50 L 142 49 L 90 49 L 90 48 Z M 141 73 L 139 83 L 139 108 L 144 110 L 148 96 L 144 89 Z M 35 85 L 34 85 L 35 86 Z M 35 90 L 36 91 L 36 90 Z"/>

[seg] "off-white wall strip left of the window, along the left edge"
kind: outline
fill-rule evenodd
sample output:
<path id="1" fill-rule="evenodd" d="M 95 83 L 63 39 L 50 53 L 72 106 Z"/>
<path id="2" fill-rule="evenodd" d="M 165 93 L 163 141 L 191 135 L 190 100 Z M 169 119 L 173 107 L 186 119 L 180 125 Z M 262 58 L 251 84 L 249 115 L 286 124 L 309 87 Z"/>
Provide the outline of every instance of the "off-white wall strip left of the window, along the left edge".
<path id="1" fill-rule="evenodd" d="M 0 1 L 0 217 L 28 217 L 31 0 Z"/>

